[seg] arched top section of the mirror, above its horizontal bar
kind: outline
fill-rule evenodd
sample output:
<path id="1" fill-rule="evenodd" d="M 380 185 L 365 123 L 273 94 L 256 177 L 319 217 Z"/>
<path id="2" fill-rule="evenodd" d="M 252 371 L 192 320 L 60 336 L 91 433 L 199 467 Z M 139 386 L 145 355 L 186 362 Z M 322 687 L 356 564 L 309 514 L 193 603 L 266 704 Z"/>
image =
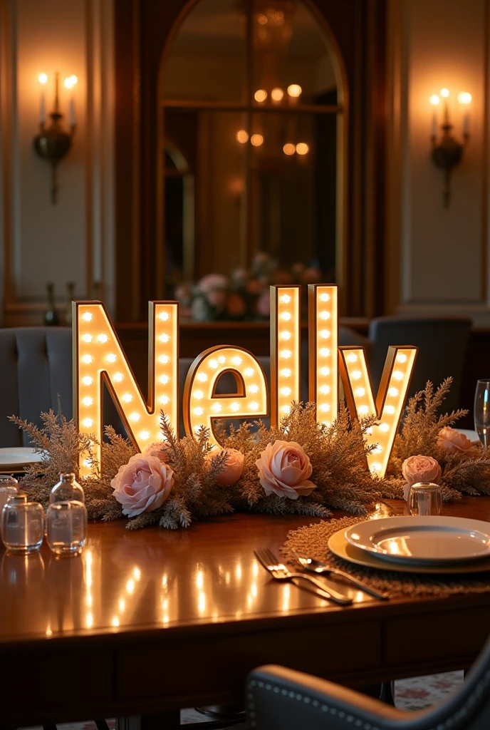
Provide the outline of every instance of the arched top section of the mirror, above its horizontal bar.
<path id="1" fill-rule="evenodd" d="M 198 0 L 166 45 L 160 99 L 332 106 L 343 101 L 341 67 L 330 29 L 303 0 Z"/>

